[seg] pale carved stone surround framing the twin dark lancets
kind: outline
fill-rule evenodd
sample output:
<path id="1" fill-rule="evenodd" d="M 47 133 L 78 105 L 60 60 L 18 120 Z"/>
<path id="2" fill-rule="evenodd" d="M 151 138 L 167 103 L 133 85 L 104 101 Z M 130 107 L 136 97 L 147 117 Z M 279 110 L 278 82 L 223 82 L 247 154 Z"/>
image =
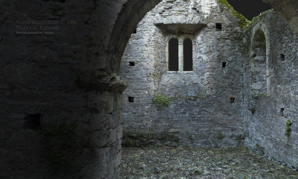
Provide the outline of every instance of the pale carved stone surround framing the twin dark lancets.
<path id="1" fill-rule="evenodd" d="M 192 35 L 189 34 L 182 34 L 182 35 L 176 35 L 176 34 L 171 34 L 166 36 L 167 39 L 167 43 L 166 43 L 166 61 L 167 61 L 167 72 L 172 72 L 169 71 L 169 41 L 172 38 L 177 38 L 178 39 L 178 72 L 193 72 L 194 71 L 194 59 L 195 59 L 195 40 L 194 37 Z M 190 38 L 190 40 L 193 43 L 193 71 L 183 71 L 183 42 L 186 38 Z"/>

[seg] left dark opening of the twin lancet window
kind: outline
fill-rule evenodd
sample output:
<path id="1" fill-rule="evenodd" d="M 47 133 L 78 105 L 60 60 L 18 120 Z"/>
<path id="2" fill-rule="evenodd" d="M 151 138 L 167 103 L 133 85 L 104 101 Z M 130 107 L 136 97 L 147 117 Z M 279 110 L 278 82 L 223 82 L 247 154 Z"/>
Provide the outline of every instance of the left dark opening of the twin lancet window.
<path id="1" fill-rule="evenodd" d="M 178 39 L 169 41 L 169 71 L 178 71 Z"/>

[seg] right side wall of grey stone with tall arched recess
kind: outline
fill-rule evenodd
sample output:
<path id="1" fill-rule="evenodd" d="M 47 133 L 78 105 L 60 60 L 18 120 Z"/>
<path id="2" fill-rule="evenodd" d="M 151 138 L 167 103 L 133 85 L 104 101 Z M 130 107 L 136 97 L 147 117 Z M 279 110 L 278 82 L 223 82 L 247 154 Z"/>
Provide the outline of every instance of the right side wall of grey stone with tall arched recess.
<path id="1" fill-rule="evenodd" d="M 297 169 L 298 38 L 278 12 L 269 10 L 246 28 L 244 46 L 245 144 Z M 252 87 L 254 76 L 265 82 L 259 84 L 262 92 Z"/>

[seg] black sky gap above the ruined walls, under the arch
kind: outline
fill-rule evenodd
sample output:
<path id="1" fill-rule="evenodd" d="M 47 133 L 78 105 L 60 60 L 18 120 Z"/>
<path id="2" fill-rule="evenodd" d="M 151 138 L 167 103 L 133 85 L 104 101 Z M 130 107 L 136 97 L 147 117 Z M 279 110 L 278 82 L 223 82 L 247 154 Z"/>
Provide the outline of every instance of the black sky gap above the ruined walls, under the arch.
<path id="1" fill-rule="evenodd" d="M 247 20 L 257 17 L 261 12 L 272 9 L 272 6 L 262 0 L 227 0 L 234 9 Z"/>

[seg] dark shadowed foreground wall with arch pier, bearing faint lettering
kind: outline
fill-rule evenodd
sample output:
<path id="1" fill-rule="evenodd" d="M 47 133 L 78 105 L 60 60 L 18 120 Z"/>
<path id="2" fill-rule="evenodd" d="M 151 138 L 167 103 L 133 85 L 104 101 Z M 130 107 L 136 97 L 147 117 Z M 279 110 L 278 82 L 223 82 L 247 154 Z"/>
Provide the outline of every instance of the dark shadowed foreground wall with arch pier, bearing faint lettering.
<path id="1" fill-rule="evenodd" d="M 1 1 L 0 178 L 117 178 L 126 83 L 113 61 L 125 21 L 134 28 L 158 2 Z M 17 35 L 17 20 L 77 23 Z"/>

